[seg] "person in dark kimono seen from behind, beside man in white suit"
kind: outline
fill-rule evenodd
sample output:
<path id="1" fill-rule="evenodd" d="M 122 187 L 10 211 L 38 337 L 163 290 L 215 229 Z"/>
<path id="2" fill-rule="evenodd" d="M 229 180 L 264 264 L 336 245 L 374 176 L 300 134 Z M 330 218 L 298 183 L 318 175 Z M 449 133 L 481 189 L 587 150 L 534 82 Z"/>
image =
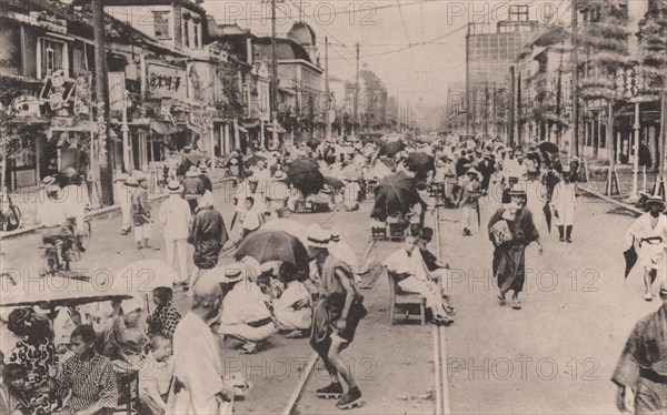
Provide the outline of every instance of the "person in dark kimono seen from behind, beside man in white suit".
<path id="1" fill-rule="evenodd" d="M 195 212 L 188 242 L 195 245 L 195 270 L 190 275 L 190 290 L 199 280 L 200 270 L 210 270 L 218 264 L 218 255 L 228 240 L 222 215 L 213 208 L 213 195 L 206 192 Z"/>

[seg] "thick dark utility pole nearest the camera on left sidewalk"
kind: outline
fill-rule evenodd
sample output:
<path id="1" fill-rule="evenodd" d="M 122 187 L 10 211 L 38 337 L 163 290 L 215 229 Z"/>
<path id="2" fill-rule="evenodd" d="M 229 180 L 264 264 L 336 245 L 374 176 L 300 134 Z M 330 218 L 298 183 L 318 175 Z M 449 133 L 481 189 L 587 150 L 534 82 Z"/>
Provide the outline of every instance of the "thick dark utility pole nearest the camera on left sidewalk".
<path id="1" fill-rule="evenodd" d="M 109 77 L 107 68 L 107 42 L 104 39 L 104 6 L 102 0 L 92 0 L 94 30 L 94 82 L 98 124 L 98 145 L 92 158 L 98 158 L 102 204 L 113 204 L 113 170 L 111 168 L 111 138 L 109 136 Z M 94 194 L 94 193 L 93 193 Z"/>

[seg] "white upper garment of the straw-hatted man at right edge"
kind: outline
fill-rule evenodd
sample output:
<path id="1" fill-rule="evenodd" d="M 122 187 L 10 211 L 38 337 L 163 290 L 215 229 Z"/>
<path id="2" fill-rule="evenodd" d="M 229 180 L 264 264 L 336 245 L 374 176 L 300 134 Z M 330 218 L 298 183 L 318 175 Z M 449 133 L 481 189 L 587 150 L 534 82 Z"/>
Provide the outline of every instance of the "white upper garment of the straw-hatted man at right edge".
<path id="1" fill-rule="evenodd" d="M 630 225 L 626 233 L 626 244 L 630 246 L 633 241 L 637 250 L 637 264 L 646 267 L 655 269 L 663 260 L 665 246 L 667 246 L 667 216 L 660 213 L 656 227 L 650 226 L 650 213 L 645 213 Z M 634 236 L 634 239 L 633 239 Z M 643 242 L 641 239 L 656 237 L 663 239 L 663 242 Z"/>

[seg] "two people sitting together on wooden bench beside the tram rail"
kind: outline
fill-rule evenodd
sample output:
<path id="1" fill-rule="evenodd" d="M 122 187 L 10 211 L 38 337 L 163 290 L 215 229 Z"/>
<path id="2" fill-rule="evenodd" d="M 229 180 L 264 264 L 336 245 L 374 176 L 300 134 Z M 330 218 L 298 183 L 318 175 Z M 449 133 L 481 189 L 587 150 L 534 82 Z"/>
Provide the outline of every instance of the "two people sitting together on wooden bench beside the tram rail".
<path id="1" fill-rule="evenodd" d="M 401 290 L 426 298 L 434 323 L 448 325 L 454 322 L 454 307 L 441 283 L 449 267 L 428 249 L 432 236 L 431 227 L 410 225 L 402 246 L 387 257 L 384 265 Z"/>

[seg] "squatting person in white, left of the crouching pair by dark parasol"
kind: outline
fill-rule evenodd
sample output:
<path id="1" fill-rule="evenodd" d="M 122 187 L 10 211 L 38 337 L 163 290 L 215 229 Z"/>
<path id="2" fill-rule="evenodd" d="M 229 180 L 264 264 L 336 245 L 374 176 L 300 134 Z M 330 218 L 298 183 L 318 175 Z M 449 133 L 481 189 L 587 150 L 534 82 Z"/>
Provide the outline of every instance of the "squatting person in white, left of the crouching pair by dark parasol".
<path id="1" fill-rule="evenodd" d="M 259 350 L 273 333 L 276 325 L 269 310 L 270 296 L 259 286 L 259 272 L 250 267 L 222 301 L 222 315 L 218 334 L 242 343 L 240 353 L 251 354 Z M 262 275 L 263 277 L 263 275 Z M 262 280 L 263 281 L 263 280 Z"/>

